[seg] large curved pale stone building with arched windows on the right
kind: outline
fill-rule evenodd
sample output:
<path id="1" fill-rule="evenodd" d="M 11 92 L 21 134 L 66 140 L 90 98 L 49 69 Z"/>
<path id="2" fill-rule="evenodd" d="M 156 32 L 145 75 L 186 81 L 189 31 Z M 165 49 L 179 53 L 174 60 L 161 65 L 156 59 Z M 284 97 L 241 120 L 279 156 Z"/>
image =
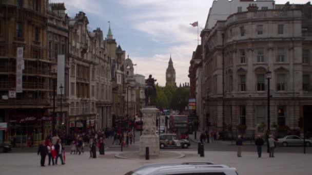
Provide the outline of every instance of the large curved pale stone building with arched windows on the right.
<path id="1" fill-rule="evenodd" d="M 197 78 L 204 87 L 198 96 L 208 103 L 202 107 L 210 114 L 210 129 L 263 134 L 270 91 L 270 128 L 276 134 L 299 128 L 302 117 L 311 131 L 311 5 L 247 9 L 202 31 L 203 70 Z"/>

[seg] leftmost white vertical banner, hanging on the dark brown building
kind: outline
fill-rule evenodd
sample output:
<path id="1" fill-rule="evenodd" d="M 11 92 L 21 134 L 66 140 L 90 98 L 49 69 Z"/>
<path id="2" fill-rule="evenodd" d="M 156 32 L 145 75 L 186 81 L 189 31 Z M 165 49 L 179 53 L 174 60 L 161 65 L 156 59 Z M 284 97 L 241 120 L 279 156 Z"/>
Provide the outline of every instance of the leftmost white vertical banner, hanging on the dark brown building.
<path id="1" fill-rule="evenodd" d="M 16 53 L 16 93 L 23 92 L 23 47 L 17 48 Z"/>

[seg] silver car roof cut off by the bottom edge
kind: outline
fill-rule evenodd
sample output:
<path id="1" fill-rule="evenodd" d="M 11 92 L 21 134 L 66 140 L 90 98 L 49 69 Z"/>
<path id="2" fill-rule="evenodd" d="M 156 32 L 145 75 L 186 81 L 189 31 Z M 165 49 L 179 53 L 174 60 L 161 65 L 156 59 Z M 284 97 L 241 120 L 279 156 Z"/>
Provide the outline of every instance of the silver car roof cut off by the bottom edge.
<path id="1" fill-rule="evenodd" d="M 133 171 L 127 172 L 125 175 L 163 175 L 163 174 L 223 174 L 237 175 L 235 168 L 226 165 L 214 165 L 212 163 L 166 163 L 145 165 Z"/>

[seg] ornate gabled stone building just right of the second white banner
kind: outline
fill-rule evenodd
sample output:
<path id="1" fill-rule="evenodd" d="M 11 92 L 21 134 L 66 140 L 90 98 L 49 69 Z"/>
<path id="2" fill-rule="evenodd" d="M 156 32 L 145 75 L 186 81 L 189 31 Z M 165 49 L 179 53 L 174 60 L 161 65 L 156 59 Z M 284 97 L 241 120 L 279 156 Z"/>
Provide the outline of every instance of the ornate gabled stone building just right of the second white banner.
<path id="1" fill-rule="evenodd" d="M 69 117 L 71 130 L 111 126 L 111 59 L 100 28 L 88 31 L 79 12 L 69 19 Z"/>

